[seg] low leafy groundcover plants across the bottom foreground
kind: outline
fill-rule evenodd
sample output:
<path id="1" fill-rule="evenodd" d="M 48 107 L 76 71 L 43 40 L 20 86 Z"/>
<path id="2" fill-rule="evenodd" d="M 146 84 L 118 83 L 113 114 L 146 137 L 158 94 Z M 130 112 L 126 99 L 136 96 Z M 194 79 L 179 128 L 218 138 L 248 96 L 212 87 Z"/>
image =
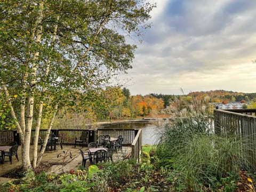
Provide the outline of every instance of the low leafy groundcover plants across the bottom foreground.
<path id="1" fill-rule="evenodd" d="M 150 150 L 148 150 L 151 148 Z M 148 151 L 148 152 L 147 152 Z M 132 160 L 100 163 L 70 170 L 61 175 L 51 174 L 47 170 L 50 165 L 43 165 L 37 171 L 21 172 L 20 179 L 6 183 L 3 191 L 254 191 L 255 175 L 248 171 L 228 172 L 219 180 L 212 178 L 211 185 L 207 182 L 198 183 L 188 188 L 178 167 L 161 165 L 156 147 L 146 146 L 141 163 Z M 172 165 L 173 162 L 172 162 Z M 9 177 L 18 171 L 9 173 Z M 17 178 L 17 177 L 16 177 Z M 199 179 L 199 177 L 198 177 Z M 205 178 L 207 179 L 207 178 Z"/>

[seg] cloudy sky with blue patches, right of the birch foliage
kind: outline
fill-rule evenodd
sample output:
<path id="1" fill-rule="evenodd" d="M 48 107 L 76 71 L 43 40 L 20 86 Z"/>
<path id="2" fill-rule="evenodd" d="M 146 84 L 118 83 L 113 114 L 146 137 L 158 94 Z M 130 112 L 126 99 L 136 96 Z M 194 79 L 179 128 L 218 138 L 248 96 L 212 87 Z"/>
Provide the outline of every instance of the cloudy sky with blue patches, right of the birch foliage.
<path id="1" fill-rule="evenodd" d="M 255 0 L 149 2 L 152 26 L 120 76 L 131 95 L 256 92 Z"/>

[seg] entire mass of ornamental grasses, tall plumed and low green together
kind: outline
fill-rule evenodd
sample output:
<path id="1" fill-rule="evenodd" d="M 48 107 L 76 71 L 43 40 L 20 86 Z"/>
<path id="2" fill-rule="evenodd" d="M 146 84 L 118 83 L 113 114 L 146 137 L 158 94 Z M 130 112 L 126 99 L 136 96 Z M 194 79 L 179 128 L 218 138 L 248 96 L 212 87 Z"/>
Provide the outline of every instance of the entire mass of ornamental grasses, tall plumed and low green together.
<path id="1" fill-rule="evenodd" d="M 156 148 L 160 164 L 173 169 L 174 186 L 185 185 L 189 191 L 197 191 L 202 184 L 217 189 L 230 173 L 255 170 L 250 163 L 255 150 L 250 138 L 214 134 L 210 113 L 203 113 L 202 108 L 197 105 L 193 110 L 190 105 L 189 110 L 175 111 L 172 121 L 160 127 Z"/>

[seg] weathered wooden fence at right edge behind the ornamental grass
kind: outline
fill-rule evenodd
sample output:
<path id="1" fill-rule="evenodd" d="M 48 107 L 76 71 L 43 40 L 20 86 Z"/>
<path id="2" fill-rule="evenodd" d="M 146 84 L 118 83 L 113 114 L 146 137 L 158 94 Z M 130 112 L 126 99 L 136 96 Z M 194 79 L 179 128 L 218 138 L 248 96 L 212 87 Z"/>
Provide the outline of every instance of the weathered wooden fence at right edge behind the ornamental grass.
<path id="1" fill-rule="evenodd" d="M 247 139 L 251 161 L 256 167 L 256 109 L 214 110 L 214 131 L 228 137 L 237 135 Z M 247 115 L 250 114 L 250 115 Z"/>

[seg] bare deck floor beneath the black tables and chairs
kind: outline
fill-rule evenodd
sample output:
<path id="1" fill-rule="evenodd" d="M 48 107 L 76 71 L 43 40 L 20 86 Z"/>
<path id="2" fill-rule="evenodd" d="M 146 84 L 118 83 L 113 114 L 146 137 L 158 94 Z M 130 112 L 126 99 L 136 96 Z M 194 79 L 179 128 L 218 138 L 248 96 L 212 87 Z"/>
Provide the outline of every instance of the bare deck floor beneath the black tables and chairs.
<path id="1" fill-rule="evenodd" d="M 58 158 L 58 154 L 64 155 L 63 151 L 69 153 L 69 151 L 72 154 L 72 158 L 67 157 L 65 159 L 65 172 L 69 170 L 77 170 L 79 166 L 82 165 L 82 156 L 80 154 L 79 149 L 82 149 L 86 151 L 88 148 L 83 147 L 81 148 L 80 146 L 77 146 L 74 148 L 74 145 L 63 145 L 63 149 L 61 150 L 60 146 L 57 146 L 57 150 L 50 150 L 49 152 L 44 153 L 43 158 L 42 158 L 42 163 L 45 164 L 52 164 L 52 170 L 51 172 L 60 174 L 62 173 L 62 157 Z M 117 150 L 117 153 L 113 154 L 113 161 L 118 161 L 118 160 L 123 160 L 126 156 L 126 154 L 131 153 L 132 148 L 123 146 L 123 152 L 121 150 Z M 38 149 L 39 151 L 39 149 Z M 32 160 L 32 155 L 33 155 L 33 146 L 30 148 L 30 159 Z M 9 162 L 9 158 L 5 157 L 5 163 L 0 164 L 0 184 L 5 183 L 8 181 L 8 179 L 4 179 L 2 176 L 6 174 L 7 172 L 17 169 L 18 167 L 22 166 L 22 159 L 21 159 L 21 147 L 19 146 L 18 148 L 18 157 L 19 157 L 19 162 L 13 156 L 12 159 L 12 164 Z M 90 165 L 90 162 L 86 162 L 86 167 Z M 2 178 L 1 178 L 2 177 Z M 7 181 L 6 181 L 7 180 Z"/>

